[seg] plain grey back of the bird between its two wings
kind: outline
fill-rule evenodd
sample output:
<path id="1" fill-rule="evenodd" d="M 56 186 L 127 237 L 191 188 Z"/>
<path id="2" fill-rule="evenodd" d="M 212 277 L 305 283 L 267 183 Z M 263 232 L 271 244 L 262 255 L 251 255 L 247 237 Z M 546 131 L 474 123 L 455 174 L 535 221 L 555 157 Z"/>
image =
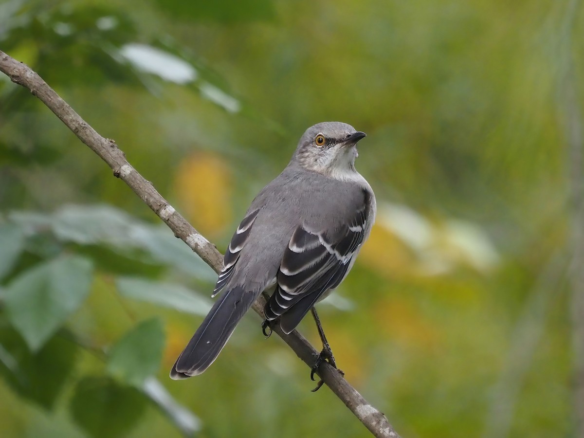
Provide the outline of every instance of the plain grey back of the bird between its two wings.
<path id="1" fill-rule="evenodd" d="M 356 175 L 363 179 L 359 173 Z M 364 179 L 363 182 L 367 184 Z M 226 288 L 245 284 L 251 292 L 262 291 L 276 277 L 284 250 L 298 225 L 304 223 L 319 231 L 327 224 L 329 232 L 342 231 L 347 213 L 363 204 L 364 190 L 363 184 L 335 180 L 290 164 L 249 207 L 248 213 L 259 211 Z M 274 228 L 274 223 L 279 227 Z"/>

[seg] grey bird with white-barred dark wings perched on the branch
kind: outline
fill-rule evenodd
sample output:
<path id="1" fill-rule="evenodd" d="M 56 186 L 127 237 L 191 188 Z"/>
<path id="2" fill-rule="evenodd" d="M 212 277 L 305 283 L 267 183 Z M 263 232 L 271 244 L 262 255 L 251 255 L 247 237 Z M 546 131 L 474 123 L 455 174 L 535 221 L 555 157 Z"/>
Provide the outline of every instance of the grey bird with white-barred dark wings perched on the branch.
<path id="1" fill-rule="evenodd" d="M 221 295 L 176 360 L 171 378 L 203 373 L 262 291 L 273 291 L 264 331 L 279 322 L 290 333 L 339 286 L 375 220 L 375 196 L 355 169 L 356 145 L 365 136 L 340 122 L 305 131 L 286 169 L 256 196 L 235 231 L 213 293 Z M 314 310 L 313 315 L 319 325 Z M 319 333 L 324 349 L 315 368 L 323 358 L 334 365 L 320 326 Z"/>

